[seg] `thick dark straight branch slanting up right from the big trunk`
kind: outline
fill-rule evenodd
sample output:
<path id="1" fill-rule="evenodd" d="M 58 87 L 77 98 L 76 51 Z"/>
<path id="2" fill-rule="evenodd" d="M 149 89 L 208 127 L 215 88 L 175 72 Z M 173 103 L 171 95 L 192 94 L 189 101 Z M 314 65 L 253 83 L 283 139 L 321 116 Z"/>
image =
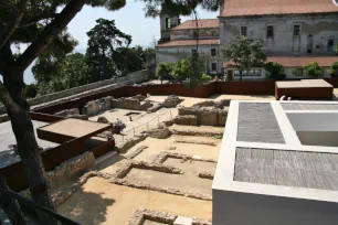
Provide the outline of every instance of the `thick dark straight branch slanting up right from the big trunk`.
<path id="1" fill-rule="evenodd" d="M 80 12 L 86 0 L 72 0 L 62 10 L 57 17 L 45 26 L 35 41 L 24 51 L 24 53 L 17 60 L 15 66 L 19 71 L 24 71 L 53 41 L 55 36 L 72 21 L 72 19 Z"/>

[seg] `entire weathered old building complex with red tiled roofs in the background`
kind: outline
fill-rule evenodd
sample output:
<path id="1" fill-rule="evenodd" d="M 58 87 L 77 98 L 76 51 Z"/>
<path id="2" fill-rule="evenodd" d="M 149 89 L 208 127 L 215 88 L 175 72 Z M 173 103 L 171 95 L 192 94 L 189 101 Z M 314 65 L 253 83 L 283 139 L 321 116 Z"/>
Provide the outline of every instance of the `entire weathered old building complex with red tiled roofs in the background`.
<path id="1" fill-rule="evenodd" d="M 173 21 L 171 26 L 170 21 Z M 338 44 L 338 7 L 332 0 L 224 0 L 220 17 L 199 20 L 199 26 L 200 50 L 208 56 L 209 72 L 221 73 L 222 67 L 226 67 L 218 57 L 220 46 L 231 44 L 236 35 L 261 40 L 267 61 L 286 67 L 286 78 L 305 78 L 302 67 L 310 62 L 318 62 L 325 71 L 323 77 L 328 77 L 328 67 L 338 61 L 332 51 Z M 191 56 L 196 28 L 194 21 L 180 24 L 177 17 L 162 17 L 157 63 Z M 215 49 L 215 55 L 211 49 Z M 297 73 L 293 74 L 293 69 Z M 265 78 L 264 69 L 260 76 L 251 76 L 253 73 L 247 72 L 246 78 Z"/>

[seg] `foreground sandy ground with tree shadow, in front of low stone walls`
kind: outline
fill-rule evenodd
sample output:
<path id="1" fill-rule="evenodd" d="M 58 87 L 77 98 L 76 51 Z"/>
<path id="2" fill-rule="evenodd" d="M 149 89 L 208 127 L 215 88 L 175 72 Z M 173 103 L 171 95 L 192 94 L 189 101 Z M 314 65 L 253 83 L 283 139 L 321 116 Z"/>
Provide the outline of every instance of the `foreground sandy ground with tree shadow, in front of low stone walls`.
<path id="1" fill-rule="evenodd" d="M 203 219 L 212 216 L 211 201 L 131 189 L 101 178 L 89 179 L 57 211 L 83 225 L 124 225 L 140 207 Z"/>

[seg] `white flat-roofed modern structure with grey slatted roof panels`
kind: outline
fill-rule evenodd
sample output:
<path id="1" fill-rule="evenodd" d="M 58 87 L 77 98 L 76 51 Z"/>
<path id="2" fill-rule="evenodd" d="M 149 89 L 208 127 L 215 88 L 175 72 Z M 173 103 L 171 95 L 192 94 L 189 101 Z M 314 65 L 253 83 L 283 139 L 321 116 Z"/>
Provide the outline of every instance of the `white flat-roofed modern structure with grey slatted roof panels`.
<path id="1" fill-rule="evenodd" d="M 213 225 L 337 225 L 338 103 L 232 100 Z"/>

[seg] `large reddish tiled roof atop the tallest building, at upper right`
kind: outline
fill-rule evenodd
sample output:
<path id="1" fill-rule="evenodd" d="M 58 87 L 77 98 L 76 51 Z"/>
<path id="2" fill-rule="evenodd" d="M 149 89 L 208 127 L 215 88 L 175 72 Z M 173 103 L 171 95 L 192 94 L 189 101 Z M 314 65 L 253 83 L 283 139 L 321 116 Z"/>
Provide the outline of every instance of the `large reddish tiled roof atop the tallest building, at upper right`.
<path id="1" fill-rule="evenodd" d="M 332 0 L 224 0 L 220 17 L 338 12 Z"/>

